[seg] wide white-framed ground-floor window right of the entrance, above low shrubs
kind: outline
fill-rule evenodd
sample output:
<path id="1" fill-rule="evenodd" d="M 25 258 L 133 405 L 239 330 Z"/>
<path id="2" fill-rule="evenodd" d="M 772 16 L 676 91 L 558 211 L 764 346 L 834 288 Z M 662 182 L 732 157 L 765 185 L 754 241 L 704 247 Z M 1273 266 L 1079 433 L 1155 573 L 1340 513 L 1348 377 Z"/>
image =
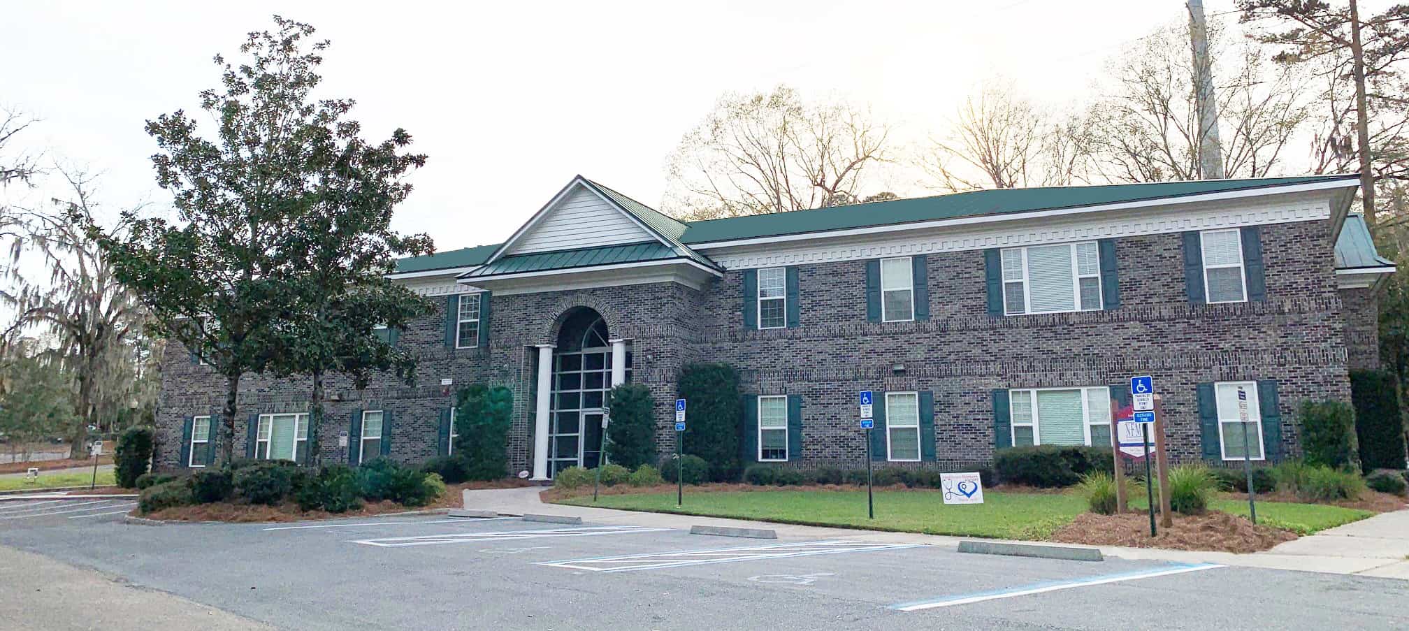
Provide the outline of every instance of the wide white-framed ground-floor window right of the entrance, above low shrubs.
<path id="1" fill-rule="evenodd" d="M 1110 389 L 1009 390 L 1013 446 L 1110 444 Z"/>

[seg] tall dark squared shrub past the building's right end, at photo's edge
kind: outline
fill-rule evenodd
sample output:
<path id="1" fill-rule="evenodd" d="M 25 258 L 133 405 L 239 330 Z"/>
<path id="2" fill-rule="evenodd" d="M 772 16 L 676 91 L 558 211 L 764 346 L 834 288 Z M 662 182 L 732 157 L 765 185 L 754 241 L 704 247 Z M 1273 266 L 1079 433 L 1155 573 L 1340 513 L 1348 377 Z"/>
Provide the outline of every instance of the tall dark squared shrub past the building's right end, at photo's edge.
<path id="1" fill-rule="evenodd" d="M 1351 370 L 1355 441 L 1363 470 L 1405 468 L 1405 423 L 1399 383 L 1388 370 Z"/>

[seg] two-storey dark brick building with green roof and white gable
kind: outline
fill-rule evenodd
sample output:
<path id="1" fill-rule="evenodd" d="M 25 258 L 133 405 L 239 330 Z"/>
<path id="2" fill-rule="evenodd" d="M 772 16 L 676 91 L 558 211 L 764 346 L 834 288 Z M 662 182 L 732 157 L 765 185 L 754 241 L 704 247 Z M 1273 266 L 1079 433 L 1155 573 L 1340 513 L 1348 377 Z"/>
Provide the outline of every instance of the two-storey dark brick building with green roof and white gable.
<path id="1" fill-rule="evenodd" d="M 696 361 L 741 373 L 745 462 L 862 462 L 858 390 L 876 393 L 879 461 L 1109 444 L 1109 400 L 1137 373 L 1165 400 L 1177 462 L 1295 455 L 1298 403 L 1348 401 L 1347 370 L 1378 365 L 1375 293 L 1395 268 L 1347 215 L 1355 186 L 986 190 L 681 223 L 575 177 L 504 244 L 400 262 L 438 306 L 389 334 L 418 352 L 417 383 L 333 379 L 323 459 L 444 454 L 469 383 L 514 392 L 513 472 L 595 465 L 624 380 L 650 386 L 668 451 L 676 373 Z M 309 390 L 248 376 L 235 452 L 302 458 Z M 168 354 L 162 466 L 209 462 L 221 393 Z"/>

